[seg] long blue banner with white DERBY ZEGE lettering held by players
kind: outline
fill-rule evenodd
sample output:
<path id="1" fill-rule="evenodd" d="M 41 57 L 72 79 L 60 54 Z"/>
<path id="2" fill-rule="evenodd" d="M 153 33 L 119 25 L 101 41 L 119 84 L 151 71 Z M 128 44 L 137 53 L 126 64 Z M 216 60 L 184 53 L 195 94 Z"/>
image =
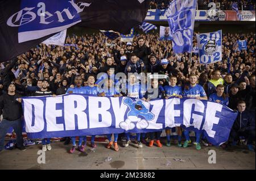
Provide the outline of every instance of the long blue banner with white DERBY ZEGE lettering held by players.
<path id="1" fill-rule="evenodd" d="M 222 104 L 193 98 L 154 99 L 84 94 L 23 98 L 29 138 L 146 133 L 184 127 L 203 131 L 209 142 L 229 138 L 237 112 Z"/>

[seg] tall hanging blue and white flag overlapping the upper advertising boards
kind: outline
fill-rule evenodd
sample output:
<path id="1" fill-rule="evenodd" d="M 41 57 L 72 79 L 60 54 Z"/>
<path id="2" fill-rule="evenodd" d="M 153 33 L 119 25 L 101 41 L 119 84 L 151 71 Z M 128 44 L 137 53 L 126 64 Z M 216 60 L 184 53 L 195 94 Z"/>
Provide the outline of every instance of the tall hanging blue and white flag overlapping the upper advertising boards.
<path id="1" fill-rule="evenodd" d="M 196 16 L 196 0 L 175 0 L 166 13 L 175 53 L 191 53 Z"/>

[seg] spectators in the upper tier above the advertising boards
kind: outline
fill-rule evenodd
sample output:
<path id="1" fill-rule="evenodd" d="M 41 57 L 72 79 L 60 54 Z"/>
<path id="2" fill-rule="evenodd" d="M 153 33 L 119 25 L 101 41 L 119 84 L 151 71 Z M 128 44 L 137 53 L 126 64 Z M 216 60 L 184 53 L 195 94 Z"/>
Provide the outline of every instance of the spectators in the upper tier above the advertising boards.
<path id="1" fill-rule="evenodd" d="M 168 9 L 170 2 L 172 0 L 154 0 L 150 2 L 150 9 L 159 9 L 164 10 Z M 255 1 L 252 0 L 198 0 L 197 5 L 199 10 L 208 10 L 210 2 L 214 2 L 216 4 L 216 9 L 218 10 L 233 10 L 232 5 L 234 2 L 237 3 L 239 10 L 249 10 L 255 11 Z"/>

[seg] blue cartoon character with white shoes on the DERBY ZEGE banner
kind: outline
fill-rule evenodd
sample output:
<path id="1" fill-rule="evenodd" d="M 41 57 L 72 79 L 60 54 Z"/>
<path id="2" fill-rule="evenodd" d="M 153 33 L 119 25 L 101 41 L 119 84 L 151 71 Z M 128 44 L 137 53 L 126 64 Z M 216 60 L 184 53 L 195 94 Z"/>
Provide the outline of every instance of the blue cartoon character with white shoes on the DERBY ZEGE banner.
<path id="1" fill-rule="evenodd" d="M 127 113 L 127 119 L 119 124 L 119 127 L 125 129 L 125 131 L 134 129 L 135 127 L 137 129 L 145 129 L 149 125 L 148 121 L 151 121 L 155 117 L 144 106 L 141 100 L 133 102 L 131 98 L 125 98 L 123 99 L 123 103 L 130 108 L 130 111 Z M 144 119 L 138 116 L 144 117 Z"/>

